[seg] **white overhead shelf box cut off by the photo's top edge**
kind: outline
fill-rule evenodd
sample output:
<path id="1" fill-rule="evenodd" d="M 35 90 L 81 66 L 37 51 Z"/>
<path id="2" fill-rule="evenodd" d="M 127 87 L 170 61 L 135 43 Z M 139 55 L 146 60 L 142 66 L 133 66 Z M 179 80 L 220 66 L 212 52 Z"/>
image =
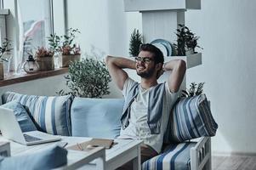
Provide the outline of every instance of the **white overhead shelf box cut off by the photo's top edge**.
<path id="1" fill-rule="evenodd" d="M 177 10 L 201 9 L 201 0 L 123 0 L 124 10 L 151 11 L 151 10 Z"/>

